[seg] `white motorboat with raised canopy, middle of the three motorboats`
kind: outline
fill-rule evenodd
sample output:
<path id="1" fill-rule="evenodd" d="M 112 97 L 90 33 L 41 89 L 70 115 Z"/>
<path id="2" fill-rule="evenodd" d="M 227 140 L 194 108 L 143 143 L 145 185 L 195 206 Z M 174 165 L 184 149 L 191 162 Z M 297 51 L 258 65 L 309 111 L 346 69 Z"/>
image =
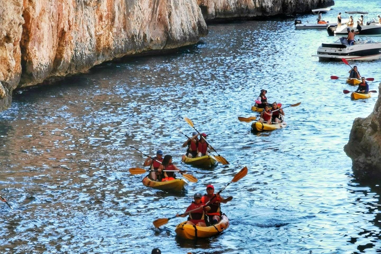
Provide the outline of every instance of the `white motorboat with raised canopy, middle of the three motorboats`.
<path id="1" fill-rule="evenodd" d="M 356 14 L 364 14 L 364 22 L 367 18 L 368 12 L 366 11 L 346 11 L 345 13 L 348 13 L 350 15 L 356 15 Z M 337 36 L 345 36 L 348 34 L 347 28 L 350 30 L 355 30 L 355 32 L 359 32 L 359 35 L 381 35 L 381 24 L 376 21 L 376 19 L 372 19 L 368 22 L 366 22 L 364 25 L 360 25 L 358 27 L 357 22 L 355 18 L 353 18 L 354 24 L 353 26 L 348 26 L 346 24 L 341 25 L 341 27 L 336 27 L 333 24 L 329 25 L 327 27 L 328 35 L 337 35 Z"/>

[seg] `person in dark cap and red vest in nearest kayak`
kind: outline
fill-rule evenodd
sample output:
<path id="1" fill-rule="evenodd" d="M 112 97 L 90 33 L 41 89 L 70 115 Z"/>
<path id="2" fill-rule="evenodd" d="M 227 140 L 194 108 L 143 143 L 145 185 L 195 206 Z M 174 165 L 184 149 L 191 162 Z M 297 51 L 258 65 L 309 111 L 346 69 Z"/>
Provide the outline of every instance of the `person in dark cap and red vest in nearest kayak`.
<path id="1" fill-rule="evenodd" d="M 191 205 L 188 206 L 185 213 L 182 215 L 176 214 L 176 216 L 177 217 L 185 217 L 188 215 L 187 212 L 192 211 L 189 213 L 187 224 L 206 227 L 205 211 L 210 210 L 210 207 L 205 206 L 205 204 L 201 202 L 201 197 L 202 197 L 201 193 L 195 193 L 193 196 L 194 201 L 192 201 Z M 197 209 L 197 208 L 199 208 L 199 209 Z M 195 210 L 195 209 L 197 209 L 197 210 Z M 195 211 L 193 211 L 193 210 L 195 210 Z"/>

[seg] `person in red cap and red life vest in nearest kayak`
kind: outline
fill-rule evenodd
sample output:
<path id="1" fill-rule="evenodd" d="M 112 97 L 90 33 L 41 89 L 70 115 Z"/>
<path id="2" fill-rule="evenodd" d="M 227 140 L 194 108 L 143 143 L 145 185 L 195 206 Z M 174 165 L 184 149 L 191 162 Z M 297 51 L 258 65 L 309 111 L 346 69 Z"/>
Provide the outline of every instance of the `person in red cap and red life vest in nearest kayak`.
<path id="1" fill-rule="evenodd" d="M 210 202 L 209 202 L 210 200 Z M 208 185 L 206 187 L 206 194 L 202 196 L 201 202 L 207 204 L 210 207 L 209 211 L 205 211 L 205 222 L 208 226 L 217 224 L 221 220 L 221 202 L 223 202 L 225 198 L 223 198 L 220 194 L 217 194 L 214 197 L 214 187 L 212 185 Z"/>

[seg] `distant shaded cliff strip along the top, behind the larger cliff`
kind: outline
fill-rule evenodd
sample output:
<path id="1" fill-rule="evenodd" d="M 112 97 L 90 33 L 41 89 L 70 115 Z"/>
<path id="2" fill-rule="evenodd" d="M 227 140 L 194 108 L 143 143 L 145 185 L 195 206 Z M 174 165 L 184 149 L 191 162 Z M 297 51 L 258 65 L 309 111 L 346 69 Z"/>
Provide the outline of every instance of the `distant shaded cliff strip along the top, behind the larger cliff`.
<path id="1" fill-rule="evenodd" d="M 306 13 L 333 0 L 197 0 L 206 21 Z"/>

